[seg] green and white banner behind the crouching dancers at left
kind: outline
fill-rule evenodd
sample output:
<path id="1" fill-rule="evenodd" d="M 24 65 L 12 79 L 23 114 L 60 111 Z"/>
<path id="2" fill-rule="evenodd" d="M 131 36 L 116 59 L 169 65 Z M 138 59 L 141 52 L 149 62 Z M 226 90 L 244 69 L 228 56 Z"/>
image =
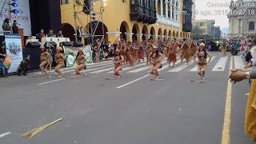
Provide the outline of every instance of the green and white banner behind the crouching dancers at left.
<path id="1" fill-rule="evenodd" d="M 66 54 L 66 67 L 75 67 L 77 66 L 75 58 L 77 57 L 79 48 L 77 47 L 66 47 L 64 46 L 64 52 Z M 82 47 L 83 54 L 86 55 L 86 65 L 93 62 L 92 51 L 89 45 Z"/>

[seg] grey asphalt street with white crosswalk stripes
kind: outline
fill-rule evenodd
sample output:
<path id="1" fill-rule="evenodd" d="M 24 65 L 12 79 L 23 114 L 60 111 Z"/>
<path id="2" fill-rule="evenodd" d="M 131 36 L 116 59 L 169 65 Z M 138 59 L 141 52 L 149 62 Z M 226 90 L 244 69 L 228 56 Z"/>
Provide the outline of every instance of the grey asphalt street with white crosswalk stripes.
<path id="1" fill-rule="evenodd" d="M 205 83 L 197 80 L 196 64 L 168 67 L 149 81 L 145 63 L 122 70 L 122 79 L 112 76 L 112 62 L 88 66 L 84 78 L 27 77 L 0 79 L 1 144 L 218 144 L 223 120 L 230 61 L 242 68 L 242 58 L 214 59 Z M 180 62 L 180 61 L 178 61 Z M 74 70 L 63 70 L 74 76 Z M 37 76 L 37 77 L 33 77 Z M 233 86 L 231 144 L 252 143 L 243 132 L 248 82 Z M 63 118 L 33 138 L 21 134 Z M 10 132 L 10 133 L 8 133 Z"/>

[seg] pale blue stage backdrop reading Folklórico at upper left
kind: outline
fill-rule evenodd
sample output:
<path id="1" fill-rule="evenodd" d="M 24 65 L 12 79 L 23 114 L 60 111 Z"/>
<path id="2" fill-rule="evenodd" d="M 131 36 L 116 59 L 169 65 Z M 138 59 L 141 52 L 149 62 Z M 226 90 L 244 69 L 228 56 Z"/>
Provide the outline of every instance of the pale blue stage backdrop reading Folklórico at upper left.
<path id="1" fill-rule="evenodd" d="M 0 35 L 3 35 L 2 24 L 6 18 L 10 19 L 10 27 L 14 23 L 14 20 L 18 21 L 18 28 L 24 29 L 24 36 L 31 35 L 31 22 L 30 22 L 30 2 L 29 0 L 18 0 L 16 3 L 17 7 L 11 6 L 11 9 L 18 10 L 18 14 L 10 13 L 10 5 L 8 2 L 13 2 L 9 0 L 1 0 L 0 1 L 0 10 L 2 9 L 2 13 L 0 14 Z M 1 12 L 1 11 L 0 11 Z"/>

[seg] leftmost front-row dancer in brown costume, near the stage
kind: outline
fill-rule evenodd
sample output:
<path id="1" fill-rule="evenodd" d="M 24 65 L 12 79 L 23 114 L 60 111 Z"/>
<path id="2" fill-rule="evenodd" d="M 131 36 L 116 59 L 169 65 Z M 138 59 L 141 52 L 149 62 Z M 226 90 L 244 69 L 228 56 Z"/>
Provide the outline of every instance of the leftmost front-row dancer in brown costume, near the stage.
<path id="1" fill-rule="evenodd" d="M 40 69 L 42 71 L 42 76 L 46 76 L 47 72 L 45 70 L 45 67 L 50 62 L 50 54 L 46 51 L 46 48 L 44 46 L 41 47 L 41 54 L 40 54 Z"/>

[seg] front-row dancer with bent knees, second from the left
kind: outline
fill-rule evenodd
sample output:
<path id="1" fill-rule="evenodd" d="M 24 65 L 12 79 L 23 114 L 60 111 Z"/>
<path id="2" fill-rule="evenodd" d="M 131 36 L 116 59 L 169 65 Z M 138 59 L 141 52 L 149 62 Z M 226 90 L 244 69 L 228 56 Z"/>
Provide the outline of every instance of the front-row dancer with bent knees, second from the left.
<path id="1" fill-rule="evenodd" d="M 65 66 L 65 64 L 64 64 L 65 55 L 61 53 L 61 49 L 60 49 L 59 46 L 56 48 L 56 54 L 54 54 L 54 60 L 55 60 L 55 62 L 56 62 L 56 64 L 57 64 L 57 66 L 55 67 L 55 70 L 54 70 L 54 71 L 55 71 L 56 73 L 58 73 L 58 77 L 63 77 L 63 74 L 62 74 L 62 72 L 61 72 L 60 69 L 61 69 L 63 66 Z"/>

